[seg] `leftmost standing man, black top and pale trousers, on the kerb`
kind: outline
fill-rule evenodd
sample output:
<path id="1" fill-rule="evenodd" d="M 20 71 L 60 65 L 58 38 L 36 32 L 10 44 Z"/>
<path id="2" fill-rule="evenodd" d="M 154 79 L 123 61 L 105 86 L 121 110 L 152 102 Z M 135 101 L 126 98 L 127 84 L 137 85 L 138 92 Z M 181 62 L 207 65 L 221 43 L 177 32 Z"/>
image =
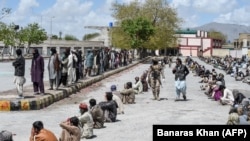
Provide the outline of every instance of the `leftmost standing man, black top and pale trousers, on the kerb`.
<path id="1" fill-rule="evenodd" d="M 17 93 L 19 98 L 23 98 L 23 85 L 26 82 L 26 79 L 24 77 L 25 74 L 25 59 L 22 56 L 22 50 L 17 49 L 16 50 L 17 58 L 13 62 L 13 66 L 15 68 L 15 78 L 14 83 L 16 84 Z"/>

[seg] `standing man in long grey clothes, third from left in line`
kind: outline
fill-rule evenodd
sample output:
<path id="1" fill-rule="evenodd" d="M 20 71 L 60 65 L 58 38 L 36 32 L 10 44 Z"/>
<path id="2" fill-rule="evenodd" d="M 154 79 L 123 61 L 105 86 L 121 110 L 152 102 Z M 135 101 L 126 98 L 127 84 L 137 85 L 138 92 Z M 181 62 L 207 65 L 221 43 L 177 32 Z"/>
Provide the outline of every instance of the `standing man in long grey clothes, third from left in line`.
<path id="1" fill-rule="evenodd" d="M 50 49 L 50 58 L 48 63 L 48 72 L 49 72 L 49 82 L 50 82 L 50 89 L 53 90 L 53 85 L 55 84 L 56 90 L 59 87 L 60 81 L 60 60 L 58 54 L 56 53 L 55 48 Z"/>

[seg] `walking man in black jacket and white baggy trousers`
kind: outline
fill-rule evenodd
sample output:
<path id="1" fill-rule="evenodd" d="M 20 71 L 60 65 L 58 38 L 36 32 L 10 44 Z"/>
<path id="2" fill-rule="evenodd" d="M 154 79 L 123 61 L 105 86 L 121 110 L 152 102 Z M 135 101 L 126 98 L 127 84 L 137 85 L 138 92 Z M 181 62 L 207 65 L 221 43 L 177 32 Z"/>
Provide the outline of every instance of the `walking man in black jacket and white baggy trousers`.
<path id="1" fill-rule="evenodd" d="M 182 93 L 183 99 L 186 100 L 186 76 L 189 74 L 188 68 L 182 64 L 180 58 L 176 59 L 176 66 L 172 70 L 175 74 L 175 90 L 176 90 L 176 100 L 180 100 L 180 94 Z"/>

